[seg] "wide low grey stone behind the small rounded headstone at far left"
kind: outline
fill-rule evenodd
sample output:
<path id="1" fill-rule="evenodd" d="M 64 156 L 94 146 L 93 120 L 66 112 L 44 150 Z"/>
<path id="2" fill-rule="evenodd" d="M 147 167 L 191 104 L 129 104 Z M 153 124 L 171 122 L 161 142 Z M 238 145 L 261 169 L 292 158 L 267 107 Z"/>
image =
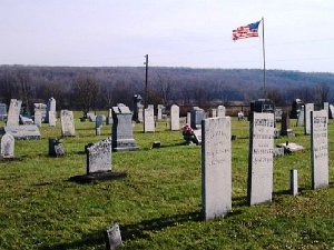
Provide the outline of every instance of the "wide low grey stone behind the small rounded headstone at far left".
<path id="1" fill-rule="evenodd" d="M 11 133 L 16 140 L 39 140 L 40 131 L 36 124 L 6 126 L 4 132 Z"/>

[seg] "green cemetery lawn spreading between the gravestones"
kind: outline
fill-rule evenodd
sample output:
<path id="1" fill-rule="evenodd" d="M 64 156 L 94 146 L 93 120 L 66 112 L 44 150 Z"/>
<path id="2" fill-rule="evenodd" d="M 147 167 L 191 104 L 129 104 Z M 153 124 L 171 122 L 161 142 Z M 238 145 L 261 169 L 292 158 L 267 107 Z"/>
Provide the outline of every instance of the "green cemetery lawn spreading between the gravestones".
<path id="1" fill-rule="evenodd" d="M 233 118 L 233 211 L 203 221 L 200 147 L 185 146 L 179 131 L 158 122 L 155 133 L 136 124 L 140 150 L 112 152 L 112 171 L 124 179 L 77 183 L 85 174 L 84 147 L 110 134 L 104 126 L 95 136 L 92 122 L 80 122 L 76 138 L 63 138 L 63 158 L 48 157 L 48 138 L 61 134 L 42 124 L 42 139 L 16 141 L 16 159 L 0 162 L 0 249 L 105 249 L 104 231 L 120 224 L 121 249 L 334 249 L 334 121 L 328 124 L 327 189 L 311 189 L 310 136 L 292 127 L 303 152 L 274 160 L 272 203 L 246 203 L 248 122 Z M 295 124 L 295 120 L 291 121 Z M 2 127 L 3 123 L 0 123 Z M 150 149 L 154 141 L 161 148 Z M 299 194 L 292 197 L 289 170 L 298 170 Z"/>

